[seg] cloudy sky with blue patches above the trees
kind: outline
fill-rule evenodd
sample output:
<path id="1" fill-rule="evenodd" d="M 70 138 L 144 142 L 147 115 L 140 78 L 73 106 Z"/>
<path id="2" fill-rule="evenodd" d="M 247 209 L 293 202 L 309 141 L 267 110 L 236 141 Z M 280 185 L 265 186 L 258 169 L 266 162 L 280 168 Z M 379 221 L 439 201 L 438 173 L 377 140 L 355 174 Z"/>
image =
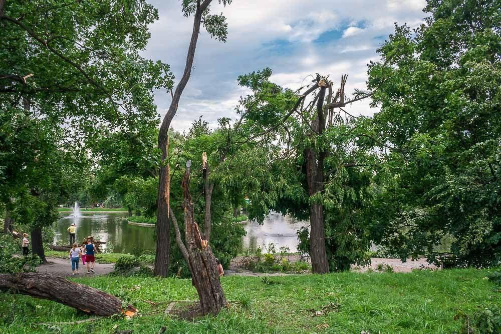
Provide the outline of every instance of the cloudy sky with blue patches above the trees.
<path id="1" fill-rule="evenodd" d="M 176 82 L 182 76 L 193 27 L 193 18 L 181 12 L 181 0 L 150 0 L 160 20 L 150 26 L 151 39 L 143 56 L 170 65 Z M 181 97 L 171 126 L 189 129 L 200 115 L 211 128 L 221 117 L 236 118 L 240 96 L 248 91 L 237 77 L 266 67 L 271 80 L 297 89 L 310 75 L 330 75 L 339 83 L 348 74 L 345 91 L 365 89 L 367 64 L 377 61 L 376 49 L 394 30 L 394 23 L 419 26 L 426 14 L 424 0 L 233 0 L 223 7 L 213 1 L 211 12 L 226 17 L 225 43 L 211 39 L 201 29 L 191 78 Z M 163 119 L 171 101 L 165 91 L 155 93 Z M 347 111 L 372 115 L 368 101 L 356 102 Z"/>

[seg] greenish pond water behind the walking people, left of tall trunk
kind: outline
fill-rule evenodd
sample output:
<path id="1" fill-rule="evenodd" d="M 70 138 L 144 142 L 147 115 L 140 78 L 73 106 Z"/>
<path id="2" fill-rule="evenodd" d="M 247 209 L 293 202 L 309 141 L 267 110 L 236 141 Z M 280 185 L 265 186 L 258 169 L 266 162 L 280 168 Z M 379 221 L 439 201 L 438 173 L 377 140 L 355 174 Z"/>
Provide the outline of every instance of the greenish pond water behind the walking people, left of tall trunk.
<path id="1" fill-rule="evenodd" d="M 155 249 L 154 228 L 127 224 L 126 213 L 83 214 L 82 217 L 65 216 L 56 223 L 55 242 L 69 242 L 66 231 L 72 222 L 77 227 L 76 239 L 82 241 L 93 235 L 97 240 L 106 242 L 101 248 L 116 253 L 130 253 L 135 249 Z"/>

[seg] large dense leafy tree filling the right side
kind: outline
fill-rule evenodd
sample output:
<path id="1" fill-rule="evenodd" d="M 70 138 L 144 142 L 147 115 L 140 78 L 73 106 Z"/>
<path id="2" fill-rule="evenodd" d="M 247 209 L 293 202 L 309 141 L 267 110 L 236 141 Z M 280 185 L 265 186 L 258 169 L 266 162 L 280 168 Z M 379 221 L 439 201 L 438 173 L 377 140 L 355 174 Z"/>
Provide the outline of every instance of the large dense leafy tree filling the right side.
<path id="1" fill-rule="evenodd" d="M 489 266 L 501 259 L 499 2 L 429 0 L 371 63 L 369 126 L 392 147 L 378 171 L 379 237 L 402 258 Z M 450 250 L 436 246 L 448 241 Z M 445 258 L 446 257 L 446 258 Z"/>

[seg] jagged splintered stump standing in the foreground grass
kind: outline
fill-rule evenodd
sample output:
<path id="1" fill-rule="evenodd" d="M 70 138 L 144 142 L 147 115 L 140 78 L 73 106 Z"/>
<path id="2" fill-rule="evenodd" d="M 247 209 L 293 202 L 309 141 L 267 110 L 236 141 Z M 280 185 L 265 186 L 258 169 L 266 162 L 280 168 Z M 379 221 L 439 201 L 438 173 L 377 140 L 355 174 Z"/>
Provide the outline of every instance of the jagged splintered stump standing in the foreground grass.
<path id="1" fill-rule="evenodd" d="M 193 203 L 189 193 L 190 164 L 186 164 L 183 178 L 184 224 L 186 244 L 191 266 L 191 281 L 200 298 L 200 308 L 204 314 L 217 314 L 226 305 L 226 298 L 219 281 L 217 264 L 207 240 L 202 240 L 193 217 Z"/>

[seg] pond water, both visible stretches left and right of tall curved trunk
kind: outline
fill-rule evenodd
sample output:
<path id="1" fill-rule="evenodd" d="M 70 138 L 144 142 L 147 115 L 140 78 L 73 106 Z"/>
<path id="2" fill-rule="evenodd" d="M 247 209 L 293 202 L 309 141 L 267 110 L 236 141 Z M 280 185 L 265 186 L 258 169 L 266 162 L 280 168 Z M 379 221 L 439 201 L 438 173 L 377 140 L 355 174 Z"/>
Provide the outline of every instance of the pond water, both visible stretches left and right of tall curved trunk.
<path id="1" fill-rule="evenodd" d="M 81 217 L 71 217 L 68 214 L 55 224 L 56 243 L 69 242 L 66 231 L 72 222 L 77 227 L 76 239 L 83 240 L 88 235 L 106 242 L 101 245 L 103 250 L 110 249 L 116 253 L 131 253 L 134 250 L 155 250 L 154 228 L 129 225 L 127 212 L 120 213 L 82 213 Z M 307 222 L 299 222 L 294 218 L 271 213 L 263 225 L 249 222 L 243 225 L 247 235 L 242 237 L 242 250 L 254 251 L 257 246 L 264 247 L 273 242 L 277 251 L 280 247 L 289 247 L 296 251 L 298 237 L 296 231 Z"/>

